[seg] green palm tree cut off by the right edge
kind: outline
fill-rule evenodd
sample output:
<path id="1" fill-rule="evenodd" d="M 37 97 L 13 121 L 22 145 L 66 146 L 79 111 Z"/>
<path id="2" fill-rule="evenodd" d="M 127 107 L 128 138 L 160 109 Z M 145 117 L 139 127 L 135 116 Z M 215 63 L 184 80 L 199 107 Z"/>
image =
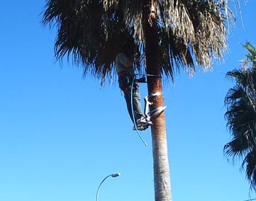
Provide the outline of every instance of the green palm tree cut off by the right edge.
<path id="1" fill-rule="evenodd" d="M 224 151 L 228 159 L 243 159 L 242 168 L 246 169 L 251 190 L 256 191 L 256 50 L 249 42 L 244 47 L 249 54 L 242 69 L 227 73 L 236 84 L 225 98 L 227 127 L 233 138 Z"/>

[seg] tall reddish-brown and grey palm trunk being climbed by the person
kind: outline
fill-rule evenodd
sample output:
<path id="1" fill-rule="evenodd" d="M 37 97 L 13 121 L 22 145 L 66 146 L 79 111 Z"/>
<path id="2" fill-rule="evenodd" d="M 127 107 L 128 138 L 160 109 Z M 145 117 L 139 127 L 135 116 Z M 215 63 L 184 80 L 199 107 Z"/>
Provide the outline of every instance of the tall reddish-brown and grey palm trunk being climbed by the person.
<path id="1" fill-rule="evenodd" d="M 148 93 L 162 93 L 162 78 L 160 77 L 160 50 L 156 26 L 156 12 L 152 1 L 143 1 L 143 21 L 145 30 L 145 57 L 148 74 Z M 163 96 L 155 97 L 151 110 L 163 106 Z M 165 115 L 161 113 L 152 120 L 152 155 L 154 163 L 155 201 L 171 201 L 171 184 L 169 179 L 169 162 L 167 156 L 167 139 L 165 129 Z"/>

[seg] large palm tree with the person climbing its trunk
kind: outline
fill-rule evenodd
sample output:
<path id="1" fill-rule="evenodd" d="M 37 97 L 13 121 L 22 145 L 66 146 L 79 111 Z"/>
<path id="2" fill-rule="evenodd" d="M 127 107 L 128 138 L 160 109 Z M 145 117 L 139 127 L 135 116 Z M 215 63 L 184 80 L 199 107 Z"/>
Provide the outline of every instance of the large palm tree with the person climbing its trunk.
<path id="1" fill-rule="evenodd" d="M 48 0 L 43 24 L 57 25 L 55 56 L 72 56 L 84 74 L 115 78 L 114 59 L 124 42 L 140 53 L 134 63 L 148 76 L 148 93 L 162 93 L 162 76 L 212 67 L 226 50 L 228 0 Z M 145 65 L 145 67 L 143 67 Z M 150 110 L 163 106 L 152 100 Z M 152 120 L 155 200 L 172 200 L 164 113 Z"/>

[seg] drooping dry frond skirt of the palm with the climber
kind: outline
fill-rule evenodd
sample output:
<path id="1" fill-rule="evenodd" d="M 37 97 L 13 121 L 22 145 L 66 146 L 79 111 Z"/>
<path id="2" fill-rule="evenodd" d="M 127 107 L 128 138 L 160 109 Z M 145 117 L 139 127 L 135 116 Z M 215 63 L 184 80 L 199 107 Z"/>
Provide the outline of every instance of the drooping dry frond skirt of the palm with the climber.
<path id="1" fill-rule="evenodd" d="M 43 24 L 57 26 L 55 56 L 72 57 L 84 74 L 105 79 L 114 72 L 114 59 L 124 42 L 134 45 L 144 64 L 143 8 L 156 13 L 159 65 L 167 77 L 184 67 L 191 73 L 198 64 L 211 68 L 211 61 L 226 50 L 228 0 L 48 0 Z"/>

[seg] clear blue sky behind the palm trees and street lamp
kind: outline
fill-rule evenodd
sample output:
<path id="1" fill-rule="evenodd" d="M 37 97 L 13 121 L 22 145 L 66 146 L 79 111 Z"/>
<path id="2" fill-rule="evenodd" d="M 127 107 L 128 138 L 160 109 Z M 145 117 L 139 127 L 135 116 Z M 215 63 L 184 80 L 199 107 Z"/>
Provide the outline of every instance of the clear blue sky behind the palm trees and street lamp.
<path id="1" fill-rule="evenodd" d="M 145 147 L 132 130 L 116 84 L 100 88 L 82 69 L 55 62 L 55 30 L 40 25 L 45 1 L 0 2 L 0 200 L 154 200 L 150 130 Z M 245 50 L 256 45 L 256 1 L 242 1 L 229 51 L 213 71 L 182 73 L 165 84 L 169 166 L 174 201 L 250 198 L 240 162 L 228 163 L 223 100 Z M 141 86 L 141 96 L 146 86 Z M 251 197 L 256 197 L 255 193 Z"/>

